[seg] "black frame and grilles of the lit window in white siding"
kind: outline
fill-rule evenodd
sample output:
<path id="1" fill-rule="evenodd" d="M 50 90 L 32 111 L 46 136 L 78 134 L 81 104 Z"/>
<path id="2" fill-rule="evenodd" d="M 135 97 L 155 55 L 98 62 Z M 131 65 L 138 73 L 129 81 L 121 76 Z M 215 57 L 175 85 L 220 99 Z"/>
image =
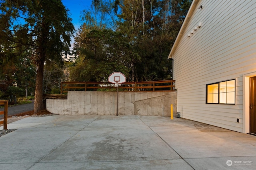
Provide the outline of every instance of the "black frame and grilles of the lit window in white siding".
<path id="1" fill-rule="evenodd" d="M 227 93 L 229 93 L 229 92 L 220 92 L 220 83 L 222 83 L 222 82 L 228 82 L 228 81 L 233 81 L 234 80 L 234 104 L 231 104 L 231 105 L 235 105 L 236 104 L 236 79 L 231 79 L 231 80 L 225 80 L 225 81 L 221 81 L 221 82 L 215 82 L 215 83 L 211 83 L 211 84 L 206 84 L 206 101 L 205 101 L 205 103 L 206 104 L 230 104 L 230 103 L 220 103 L 220 94 L 227 94 Z M 217 94 L 217 93 L 214 93 L 214 89 L 212 90 L 212 93 L 208 93 L 208 86 L 210 86 L 210 85 L 213 85 L 214 86 L 214 84 L 218 84 L 218 102 L 216 103 L 214 103 L 214 97 L 213 97 L 213 99 L 212 99 L 212 103 L 209 103 L 208 102 L 208 95 L 209 94 L 212 94 L 212 95 L 214 95 L 214 94 Z M 233 92 L 233 91 L 232 91 Z"/>

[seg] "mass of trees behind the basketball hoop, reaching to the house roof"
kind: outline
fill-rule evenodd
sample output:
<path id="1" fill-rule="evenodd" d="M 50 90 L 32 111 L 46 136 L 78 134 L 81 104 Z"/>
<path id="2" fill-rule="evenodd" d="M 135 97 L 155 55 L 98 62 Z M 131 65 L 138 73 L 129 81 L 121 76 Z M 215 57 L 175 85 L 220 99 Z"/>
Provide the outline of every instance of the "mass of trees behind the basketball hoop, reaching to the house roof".
<path id="1" fill-rule="evenodd" d="M 107 81 L 114 71 L 123 72 L 127 81 L 172 79 L 167 56 L 192 1 L 105 2 L 95 0 L 91 11 L 84 11 L 85 22 L 75 37 L 71 80 Z M 102 16 L 111 22 L 102 21 Z"/>

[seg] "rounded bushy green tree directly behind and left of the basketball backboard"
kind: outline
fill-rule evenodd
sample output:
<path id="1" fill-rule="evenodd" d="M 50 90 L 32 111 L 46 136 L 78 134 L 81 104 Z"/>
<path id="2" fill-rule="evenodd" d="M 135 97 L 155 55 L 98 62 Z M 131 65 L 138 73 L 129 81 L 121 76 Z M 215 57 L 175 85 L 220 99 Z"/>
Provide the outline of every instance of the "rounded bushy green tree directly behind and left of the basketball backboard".
<path id="1" fill-rule="evenodd" d="M 80 35 L 84 38 L 76 39 L 75 50 L 79 57 L 70 68 L 72 80 L 107 81 L 114 71 L 128 74 L 122 46 L 125 41 L 120 33 L 110 29 L 85 29 L 80 30 Z"/>

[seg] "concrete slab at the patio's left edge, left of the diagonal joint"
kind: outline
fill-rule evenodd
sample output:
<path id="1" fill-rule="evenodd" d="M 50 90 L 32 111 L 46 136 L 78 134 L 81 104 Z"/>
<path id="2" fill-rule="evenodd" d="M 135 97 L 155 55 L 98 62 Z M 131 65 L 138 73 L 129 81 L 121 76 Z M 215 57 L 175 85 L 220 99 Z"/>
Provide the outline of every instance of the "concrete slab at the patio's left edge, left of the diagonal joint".
<path id="1" fill-rule="evenodd" d="M 0 164 L 38 162 L 76 133 L 77 131 L 13 131 L 0 137 Z"/>

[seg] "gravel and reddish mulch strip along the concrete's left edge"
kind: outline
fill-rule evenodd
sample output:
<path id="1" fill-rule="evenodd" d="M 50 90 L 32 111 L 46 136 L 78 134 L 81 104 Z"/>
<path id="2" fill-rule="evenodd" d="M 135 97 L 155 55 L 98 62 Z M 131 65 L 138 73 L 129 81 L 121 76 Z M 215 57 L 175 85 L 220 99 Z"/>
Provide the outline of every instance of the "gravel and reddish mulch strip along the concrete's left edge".
<path id="1" fill-rule="evenodd" d="M 18 121 L 20 119 L 24 119 L 26 117 L 45 117 L 45 116 L 57 115 L 57 114 L 54 114 L 54 113 L 50 113 L 49 111 L 46 111 L 46 110 L 42 110 L 42 111 L 40 111 L 37 114 L 34 114 L 33 112 L 34 111 L 27 111 L 27 112 L 24 112 L 24 113 L 20 113 L 20 114 L 8 117 L 7 118 L 7 128 L 8 128 L 8 124 L 9 123 L 12 123 L 14 121 Z M 3 125 L 0 125 L 0 126 L 3 126 Z M 8 134 L 8 133 L 10 133 L 12 131 L 15 131 L 15 130 L 17 130 L 17 129 L 0 130 L 0 137 L 3 136 L 3 135 L 6 135 L 6 134 Z"/>

